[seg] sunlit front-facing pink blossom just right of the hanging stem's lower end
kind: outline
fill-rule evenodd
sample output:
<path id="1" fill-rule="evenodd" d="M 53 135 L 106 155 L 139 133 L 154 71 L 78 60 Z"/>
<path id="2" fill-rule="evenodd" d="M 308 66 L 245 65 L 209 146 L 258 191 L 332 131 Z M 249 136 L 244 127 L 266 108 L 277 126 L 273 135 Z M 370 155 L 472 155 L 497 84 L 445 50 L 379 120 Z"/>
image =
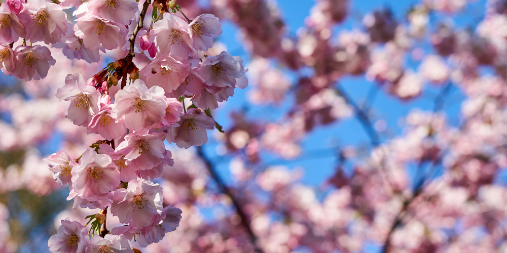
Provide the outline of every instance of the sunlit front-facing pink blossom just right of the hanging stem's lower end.
<path id="1" fill-rule="evenodd" d="M 121 223 L 147 228 L 162 214 L 162 187 L 144 179 L 130 180 L 127 189 L 118 189 L 113 196 L 111 213 Z"/>

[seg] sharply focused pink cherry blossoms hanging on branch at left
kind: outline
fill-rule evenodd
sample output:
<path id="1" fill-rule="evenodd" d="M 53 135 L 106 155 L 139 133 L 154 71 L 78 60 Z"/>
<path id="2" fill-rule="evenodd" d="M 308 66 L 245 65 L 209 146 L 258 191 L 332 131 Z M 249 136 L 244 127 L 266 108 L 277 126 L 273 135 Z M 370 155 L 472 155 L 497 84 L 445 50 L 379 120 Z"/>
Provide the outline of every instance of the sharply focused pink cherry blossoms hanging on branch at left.
<path id="1" fill-rule="evenodd" d="M 73 22 L 69 8 L 75 8 Z M 241 58 L 203 53 L 222 33 L 218 18 L 202 14 L 192 21 L 183 14 L 184 20 L 176 11 L 183 14 L 175 2 L 150 5 L 150 0 L 9 0 L 0 6 L 6 75 L 45 78 L 56 63 L 48 47 L 88 63 L 98 62 L 106 50 L 128 52 L 88 80 L 80 73 L 67 75 L 56 92 L 60 101 L 70 102 L 68 120 L 103 140 L 77 159 L 59 151 L 44 160 L 54 180 L 68 185 L 74 208 L 102 210 L 90 220 L 99 224 L 94 229 L 99 235 L 91 239 L 81 223 L 62 220 L 48 243 L 52 252 L 132 252 L 130 240 L 144 247 L 178 227 L 182 210 L 164 206 L 163 188 L 150 181 L 174 164 L 164 141 L 180 148 L 206 143 L 206 130 L 216 124 L 210 110 L 248 81 Z M 143 25 L 146 13 L 152 13 L 149 25 Z M 149 63 L 137 68 L 136 55 Z M 121 89 L 113 91 L 119 80 Z M 192 105 L 185 107 L 184 100 Z M 107 208 L 123 226 L 106 229 Z"/>

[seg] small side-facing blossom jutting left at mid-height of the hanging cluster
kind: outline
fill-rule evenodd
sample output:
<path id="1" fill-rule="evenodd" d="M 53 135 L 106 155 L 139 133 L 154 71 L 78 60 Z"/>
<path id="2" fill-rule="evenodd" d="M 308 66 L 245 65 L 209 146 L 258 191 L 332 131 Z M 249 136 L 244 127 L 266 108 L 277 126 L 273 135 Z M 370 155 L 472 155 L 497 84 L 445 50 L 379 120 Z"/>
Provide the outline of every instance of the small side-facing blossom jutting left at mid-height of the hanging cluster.
<path id="1" fill-rule="evenodd" d="M 58 151 L 44 158 L 44 161 L 48 163 L 49 170 L 53 172 L 53 178 L 60 185 L 70 181 L 72 168 L 78 164 L 64 151 Z"/>

